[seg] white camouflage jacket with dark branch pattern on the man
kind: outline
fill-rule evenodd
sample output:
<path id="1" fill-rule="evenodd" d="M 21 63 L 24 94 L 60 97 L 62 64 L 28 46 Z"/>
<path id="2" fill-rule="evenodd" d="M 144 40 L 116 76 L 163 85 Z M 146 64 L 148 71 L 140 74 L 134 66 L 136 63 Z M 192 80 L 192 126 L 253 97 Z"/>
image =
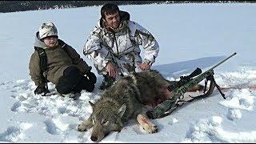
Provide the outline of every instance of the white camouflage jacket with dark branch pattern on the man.
<path id="1" fill-rule="evenodd" d="M 158 57 L 158 42 L 148 30 L 130 21 L 130 14 L 127 14 L 121 11 L 121 24 L 114 31 L 106 30 L 101 19 L 86 41 L 83 54 L 94 62 L 98 74 L 106 74 L 107 62 L 112 62 L 124 75 L 140 71 L 139 46 L 145 51 L 143 62 L 152 64 Z"/>

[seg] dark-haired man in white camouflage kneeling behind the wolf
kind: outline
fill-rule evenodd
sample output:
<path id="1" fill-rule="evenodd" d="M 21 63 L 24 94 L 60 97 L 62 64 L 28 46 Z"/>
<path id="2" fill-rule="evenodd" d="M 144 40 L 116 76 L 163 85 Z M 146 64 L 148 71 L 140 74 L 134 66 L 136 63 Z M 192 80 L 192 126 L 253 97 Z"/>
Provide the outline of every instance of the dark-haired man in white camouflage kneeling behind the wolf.
<path id="1" fill-rule="evenodd" d="M 149 70 L 158 56 L 159 46 L 148 30 L 130 21 L 130 14 L 119 10 L 117 5 L 102 6 L 101 16 L 86 41 L 83 54 L 94 62 L 98 74 L 103 75 L 100 86 L 103 90 L 118 76 Z M 145 51 L 143 61 L 139 46 Z"/>

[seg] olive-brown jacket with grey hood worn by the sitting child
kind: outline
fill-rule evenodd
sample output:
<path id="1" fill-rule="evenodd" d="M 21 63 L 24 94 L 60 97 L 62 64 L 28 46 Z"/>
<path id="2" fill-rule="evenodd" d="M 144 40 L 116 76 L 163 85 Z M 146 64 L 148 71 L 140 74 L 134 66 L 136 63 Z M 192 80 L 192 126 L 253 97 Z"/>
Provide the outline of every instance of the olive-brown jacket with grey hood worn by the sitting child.
<path id="1" fill-rule="evenodd" d="M 48 69 L 43 75 L 55 85 L 58 84 L 58 79 L 63 76 L 63 71 L 69 66 L 76 66 L 82 74 L 90 72 L 91 66 L 88 66 L 80 55 L 62 40 L 58 39 L 58 45 L 48 48 L 46 44 L 38 38 L 38 32 L 36 34 L 34 46 L 45 49 L 47 55 L 47 67 Z M 66 47 L 66 51 L 62 47 Z M 40 63 L 39 63 L 38 51 L 34 50 L 34 54 L 30 57 L 30 76 L 35 85 L 42 84 L 42 78 L 40 75 Z"/>

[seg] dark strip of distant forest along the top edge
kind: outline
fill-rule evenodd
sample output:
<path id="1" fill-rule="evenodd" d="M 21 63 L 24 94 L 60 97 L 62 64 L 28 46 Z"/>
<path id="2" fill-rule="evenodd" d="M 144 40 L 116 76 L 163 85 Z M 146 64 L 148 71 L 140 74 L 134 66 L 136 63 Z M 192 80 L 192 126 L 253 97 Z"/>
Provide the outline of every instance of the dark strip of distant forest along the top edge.
<path id="1" fill-rule="evenodd" d="M 171 3 L 215 3 L 215 2 L 256 2 L 256 1 L 0 1 L 0 13 L 26 10 L 64 9 L 85 6 L 101 6 L 107 2 L 118 5 L 171 4 Z"/>

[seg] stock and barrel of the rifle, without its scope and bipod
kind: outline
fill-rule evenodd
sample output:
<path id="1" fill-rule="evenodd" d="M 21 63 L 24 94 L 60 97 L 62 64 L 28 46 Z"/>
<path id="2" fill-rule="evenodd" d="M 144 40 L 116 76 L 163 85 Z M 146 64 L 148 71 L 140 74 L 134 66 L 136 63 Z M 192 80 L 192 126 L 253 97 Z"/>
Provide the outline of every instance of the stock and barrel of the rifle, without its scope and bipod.
<path id="1" fill-rule="evenodd" d="M 221 65 L 223 62 L 226 62 L 226 60 L 233 57 L 235 54 L 237 53 L 234 52 L 234 54 L 231 54 L 229 57 L 223 59 L 221 62 L 218 62 L 216 65 L 212 66 L 209 70 L 206 70 L 204 73 L 198 75 L 196 78 L 191 78 L 191 80 L 189 82 L 186 82 L 186 84 L 184 84 L 183 86 L 174 88 L 173 90 L 175 92 L 174 96 L 170 99 L 167 99 L 165 102 L 158 104 L 158 106 L 154 107 L 152 110 L 147 111 L 146 112 L 147 116 L 149 118 L 154 119 L 154 118 L 162 118 L 163 116 L 168 115 L 166 114 L 166 112 L 176 105 L 177 99 L 180 98 L 183 94 L 185 94 L 190 87 L 197 85 L 203 79 L 213 75 L 215 67 Z M 199 68 L 197 68 L 197 70 L 198 69 Z M 192 73 L 190 75 L 194 76 L 195 74 Z"/>

